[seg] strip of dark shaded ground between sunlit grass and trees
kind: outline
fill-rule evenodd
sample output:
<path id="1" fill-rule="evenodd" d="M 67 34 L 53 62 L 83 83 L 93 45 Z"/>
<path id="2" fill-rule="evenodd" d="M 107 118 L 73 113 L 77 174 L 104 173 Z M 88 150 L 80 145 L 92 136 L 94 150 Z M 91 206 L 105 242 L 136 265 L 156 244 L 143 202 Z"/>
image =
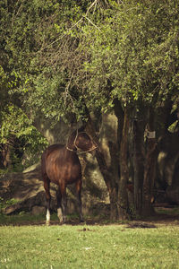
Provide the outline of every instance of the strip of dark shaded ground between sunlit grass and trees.
<path id="1" fill-rule="evenodd" d="M 156 224 L 179 225 L 179 208 L 171 210 L 158 210 L 153 216 L 145 219 L 141 218 L 133 221 L 110 221 L 107 216 L 86 216 L 85 222 L 80 222 L 77 215 L 68 215 L 65 225 L 121 225 L 126 228 L 156 228 Z M 20 213 L 13 215 L 0 214 L 0 226 L 24 226 L 24 225 L 46 225 L 44 214 L 31 215 L 30 213 Z M 50 225 L 63 225 L 58 221 L 56 213 L 51 215 Z"/>

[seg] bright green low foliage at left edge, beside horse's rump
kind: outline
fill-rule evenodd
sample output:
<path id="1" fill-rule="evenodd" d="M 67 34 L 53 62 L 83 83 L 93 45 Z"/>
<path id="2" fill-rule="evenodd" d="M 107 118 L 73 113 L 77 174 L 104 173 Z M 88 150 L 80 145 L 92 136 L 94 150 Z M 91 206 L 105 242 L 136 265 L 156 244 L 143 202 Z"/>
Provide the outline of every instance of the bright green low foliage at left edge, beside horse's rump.
<path id="1" fill-rule="evenodd" d="M 9 81 L 8 74 L 5 74 L 4 69 L 0 66 L 0 148 L 7 145 L 11 148 L 11 162 L 15 171 L 21 170 L 30 164 L 30 157 L 33 155 L 33 161 L 36 159 L 35 155 L 41 152 L 47 144 L 46 139 L 38 133 L 38 130 L 32 126 L 29 117 L 24 111 L 18 107 L 16 94 L 14 89 L 18 84 L 18 77 L 15 76 L 12 81 Z M 18 152 L 18 154 L 17 154 Z M 19 154 L 26 152 L 29 160 L 22 158 Z"/>

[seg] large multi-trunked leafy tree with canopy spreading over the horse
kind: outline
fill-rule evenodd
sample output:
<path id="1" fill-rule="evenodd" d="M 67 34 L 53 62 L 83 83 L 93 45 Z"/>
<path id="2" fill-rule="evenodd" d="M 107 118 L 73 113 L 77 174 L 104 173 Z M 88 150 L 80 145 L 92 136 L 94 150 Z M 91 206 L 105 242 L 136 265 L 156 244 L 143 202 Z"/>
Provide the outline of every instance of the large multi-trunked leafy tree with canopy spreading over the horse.
<path id="1" fill-rule="evenodd" d="M 91 116 L 113 114 L 117 140 L 108 140 L 107 150 L 114 163 L 107 163 L 103 146 L 97 152 L 111 217 L 131 214 L 128 175 L 135 212 L 151 213 L 156 142 L 177 106 L 178 4 L 41 0 L 2 6 L 8 26 L 3 51 L 11 59 L 5 72 L 16 80 L 18 106 L 34 122 L 39 113 L 54 125 L 61 118 L 81 120 L 97 141 L 100 123 Z"/>

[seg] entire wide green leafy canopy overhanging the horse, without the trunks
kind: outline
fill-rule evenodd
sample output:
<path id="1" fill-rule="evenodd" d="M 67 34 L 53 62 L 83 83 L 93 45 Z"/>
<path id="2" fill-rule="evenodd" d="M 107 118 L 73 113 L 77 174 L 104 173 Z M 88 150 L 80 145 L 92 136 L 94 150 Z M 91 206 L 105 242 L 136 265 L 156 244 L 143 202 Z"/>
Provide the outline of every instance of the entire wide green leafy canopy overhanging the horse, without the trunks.
<path id="1" fill-rule="evenodd" d="M 155 106 L 177 94 L 177 3 L 104 3 L 13 3 L 4 19 L 11 39 L 2 37 L 19 82 L 13 91 L 30 117 L 40 111 L 56 123 L 85 117 L 86 105 L 107 112 L 116 98 Z"/>

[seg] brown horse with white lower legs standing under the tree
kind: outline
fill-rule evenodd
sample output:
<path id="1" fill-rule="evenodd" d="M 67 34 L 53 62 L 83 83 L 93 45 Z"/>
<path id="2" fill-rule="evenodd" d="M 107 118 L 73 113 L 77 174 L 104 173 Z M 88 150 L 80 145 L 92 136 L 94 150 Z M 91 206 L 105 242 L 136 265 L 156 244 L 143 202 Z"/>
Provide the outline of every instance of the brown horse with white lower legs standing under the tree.
<path id="1" fill-rule="evenodd" d="M 58 185 L 56 192 L 57 215 L 60 222 L 66 221 L 66 186 L 75 183 L 81 212 L 81 163 L 77 151 L 91 152 L 97 148 L 90 135 L 83 128 L 70 135 L 67 145 L 53 144 L 42 154 L 41 169 L 47 198 L 47 225 L 50 223 L 50 182 Z"/>

